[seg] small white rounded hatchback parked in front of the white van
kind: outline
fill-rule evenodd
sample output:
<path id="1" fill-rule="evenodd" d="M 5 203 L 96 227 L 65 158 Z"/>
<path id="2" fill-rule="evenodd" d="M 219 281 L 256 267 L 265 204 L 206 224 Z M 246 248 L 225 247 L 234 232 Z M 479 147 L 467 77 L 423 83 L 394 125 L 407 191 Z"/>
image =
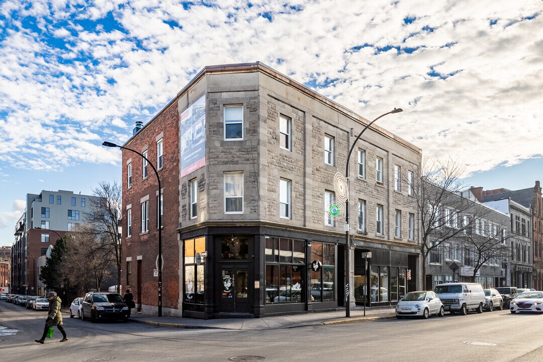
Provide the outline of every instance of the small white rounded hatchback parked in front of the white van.
<path id="1" fill-rule="evenodd" d="M 439 297 L 431 290 L 410 291 L 396 304 L 396 318 L 423 317 L 432 314 L 445 315 L 445 307 Z"/>

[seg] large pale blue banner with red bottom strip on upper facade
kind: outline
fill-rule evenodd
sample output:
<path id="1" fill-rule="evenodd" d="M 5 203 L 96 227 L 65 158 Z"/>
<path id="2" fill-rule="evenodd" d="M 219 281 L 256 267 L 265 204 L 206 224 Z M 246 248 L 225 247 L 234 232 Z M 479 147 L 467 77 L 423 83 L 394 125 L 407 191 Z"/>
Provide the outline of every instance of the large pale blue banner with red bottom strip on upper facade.
<path id="1" fill-rule="evenodd" d="M 179 116 L 181 177 L 205 166 L 205 96 Z"/>

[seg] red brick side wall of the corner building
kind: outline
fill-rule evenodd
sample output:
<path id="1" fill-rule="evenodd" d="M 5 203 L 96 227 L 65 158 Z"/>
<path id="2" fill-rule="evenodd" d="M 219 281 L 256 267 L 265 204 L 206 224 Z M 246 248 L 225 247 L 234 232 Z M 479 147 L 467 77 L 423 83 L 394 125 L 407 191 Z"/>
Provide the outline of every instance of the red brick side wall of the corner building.
<path id="1" fill-rule="evenodd" d="M 142 153 L 147 145 L 147 158 L 156 167 L 156 137 L 162 137 L 163 168 L 158 171 L 163 189 L 162 221 L 162 307 L 178 308 L 179 301 L 179 244 L 176 229 L 179 225 L 179 113 L 174 101 L 140 130 L 125 147 Z M 148 177 L 142 179 L 141 156 L 123 150 L 123 263 L 122 285 L 127 281 L 126 258 L 131 257 L 131 284 L 126 285 L 134 295 L 136 305 L 158 306 L 158 278 L 153 269 L 158 255 L 157 199 L 158 183 L 153 169 L 148 166 Z M 127 161 L 132 159 L 132 187 L 127 189 Z M 141 233 L 140 199 L 149 195 L 149 233 Z M 132 205 L 132 236 L 127 238 L 127 205 Z M 142 256 L 142 300 L 138 300 L 137 256 Z M 123 290 L 124 292 L 124 290 Z"/>

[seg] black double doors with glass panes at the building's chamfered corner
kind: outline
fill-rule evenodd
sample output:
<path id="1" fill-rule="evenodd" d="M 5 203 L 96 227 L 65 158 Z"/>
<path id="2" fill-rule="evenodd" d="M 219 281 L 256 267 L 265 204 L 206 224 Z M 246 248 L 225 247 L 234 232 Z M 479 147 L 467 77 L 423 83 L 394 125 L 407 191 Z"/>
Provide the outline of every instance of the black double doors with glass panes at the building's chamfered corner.
<path id="1" fill-rule="evenodd" d="M 249 265 L 220 266 L 220 312 L 249 313 Z"/>

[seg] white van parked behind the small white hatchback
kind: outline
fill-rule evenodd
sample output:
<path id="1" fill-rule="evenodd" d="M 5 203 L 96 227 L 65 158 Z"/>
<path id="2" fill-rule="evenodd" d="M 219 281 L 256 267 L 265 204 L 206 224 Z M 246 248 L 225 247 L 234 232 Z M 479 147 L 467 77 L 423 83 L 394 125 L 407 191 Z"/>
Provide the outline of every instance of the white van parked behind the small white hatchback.
<path id="1" fill-rule="evenodd" d="M 434 288 L 445 310 L 451 314 L 460 312 L 466 315 L 469 309 L 475 309 L 477 313 L 483 313 L 485 303 L 484 290 L 477 283 L 444 283 Z"/>

